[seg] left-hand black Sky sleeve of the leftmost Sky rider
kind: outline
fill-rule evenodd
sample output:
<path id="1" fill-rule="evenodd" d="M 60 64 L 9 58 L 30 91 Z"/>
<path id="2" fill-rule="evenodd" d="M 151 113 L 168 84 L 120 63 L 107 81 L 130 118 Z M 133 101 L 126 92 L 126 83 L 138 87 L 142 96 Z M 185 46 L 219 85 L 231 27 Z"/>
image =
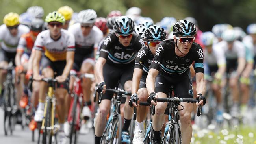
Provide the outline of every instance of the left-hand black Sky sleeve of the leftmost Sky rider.
<path id="1" fill-rule="evenodd" d="M 101 48 L 100 48 L 100 57 L 107 59 L 109 50 L 111 49 L 111 47 L 113 45 L 112 41 L 113 41 L 114 36 L 115 35 L 113 35 L 113 34 L 108 34 L 106 36 L 106 38 L 104 39 L 103 44 L 101 45 Z"/>

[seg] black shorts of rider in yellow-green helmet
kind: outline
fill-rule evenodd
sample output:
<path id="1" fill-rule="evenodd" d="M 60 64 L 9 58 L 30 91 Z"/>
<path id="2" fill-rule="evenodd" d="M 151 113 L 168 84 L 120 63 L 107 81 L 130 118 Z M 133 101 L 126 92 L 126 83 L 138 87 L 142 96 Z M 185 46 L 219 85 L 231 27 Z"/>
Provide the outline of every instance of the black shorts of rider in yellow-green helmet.
<path id="1" fill-rule="evenodd" d="M 66 61 L 51 61 L 45 55 L 42 55 L 41 66 L 44 68 L 51 68 L 54 71 L 54 77 L 61 76 L 66 66 Z M 69 83 L 58 83 L 58 88 L 64 88 L 69 91 Z"/>

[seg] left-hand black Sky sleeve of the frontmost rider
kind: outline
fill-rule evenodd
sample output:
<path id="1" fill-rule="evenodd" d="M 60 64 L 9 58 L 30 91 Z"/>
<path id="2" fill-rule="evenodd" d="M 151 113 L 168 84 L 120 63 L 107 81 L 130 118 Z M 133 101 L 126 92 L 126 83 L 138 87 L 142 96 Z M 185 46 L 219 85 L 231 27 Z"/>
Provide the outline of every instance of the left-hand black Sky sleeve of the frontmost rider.
<path id="1" fill-rule="evenodd" d="M 164 47 L 165 47 L 165 44 L 163 42 L 158 44 L 158 48 L 156 50 L 156 55 L 154 56 L 154 58 L 152 60 L 150 68 L 154 68 L 156 70 L 160 69 L 162 61 L 163 61 L 163 59 L 165 57 Z"/>

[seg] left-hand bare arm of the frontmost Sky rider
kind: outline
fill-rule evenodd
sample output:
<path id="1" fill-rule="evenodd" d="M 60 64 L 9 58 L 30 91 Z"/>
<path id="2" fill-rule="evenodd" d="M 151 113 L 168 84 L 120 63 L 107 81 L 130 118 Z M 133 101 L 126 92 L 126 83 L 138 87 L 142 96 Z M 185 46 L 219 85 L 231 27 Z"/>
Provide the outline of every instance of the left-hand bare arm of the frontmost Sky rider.
<path id="1" fill-rule="evenodd" d="M 147 79 L 146 79 L 146 87 L 147 87 L 147 90 L 148 90 L 148 95 L 151 92 L 155 92 L 155 81 L 156 81 L 157 74 L 158 74 L 158 70 L 156 70 L 156 69 L 151 68 L 148 71 L 148 76 L 147 76 Z"/>

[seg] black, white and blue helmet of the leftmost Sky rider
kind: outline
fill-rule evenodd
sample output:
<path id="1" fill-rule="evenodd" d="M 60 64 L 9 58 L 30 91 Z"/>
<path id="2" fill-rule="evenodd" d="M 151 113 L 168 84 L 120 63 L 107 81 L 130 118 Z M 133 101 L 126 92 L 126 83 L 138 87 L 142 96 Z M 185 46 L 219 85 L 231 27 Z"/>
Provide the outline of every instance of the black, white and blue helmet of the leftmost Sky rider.
<path id="1" fill-rule="evenodd" d="M 115 20 L 113 30 L 119 35 L 129 35 L 134 31 L 134 21 L 126 16 Z"/>

